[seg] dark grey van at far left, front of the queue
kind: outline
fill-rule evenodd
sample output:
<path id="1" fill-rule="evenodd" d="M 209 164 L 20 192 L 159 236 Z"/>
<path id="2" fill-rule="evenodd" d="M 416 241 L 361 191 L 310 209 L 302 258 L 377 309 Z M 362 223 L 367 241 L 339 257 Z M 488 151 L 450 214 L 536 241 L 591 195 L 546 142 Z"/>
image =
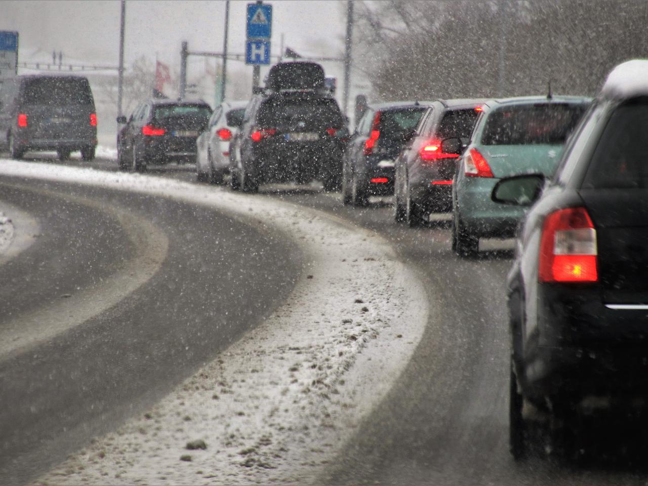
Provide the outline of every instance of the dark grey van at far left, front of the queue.
<path id="1" fill-rule="evenodd" d="M 97 112 L 87 78 L 21 75 L 0 85 L 0 146 L 19 159 L 30 150 L 56 150 L 65 160 L 81 151 L 95 158 Z"/>

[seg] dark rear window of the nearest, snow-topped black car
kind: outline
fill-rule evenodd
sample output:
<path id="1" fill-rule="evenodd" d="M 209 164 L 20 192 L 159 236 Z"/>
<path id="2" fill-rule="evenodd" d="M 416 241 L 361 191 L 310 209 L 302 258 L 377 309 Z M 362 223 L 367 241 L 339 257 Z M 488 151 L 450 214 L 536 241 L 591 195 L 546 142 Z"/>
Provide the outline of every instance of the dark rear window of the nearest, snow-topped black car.
<path id="1" fill-rule="evenodd" d="M 648 188 L 648 99 L 620 106 L 601 134 L 583 181 L 593 189 Z"/>

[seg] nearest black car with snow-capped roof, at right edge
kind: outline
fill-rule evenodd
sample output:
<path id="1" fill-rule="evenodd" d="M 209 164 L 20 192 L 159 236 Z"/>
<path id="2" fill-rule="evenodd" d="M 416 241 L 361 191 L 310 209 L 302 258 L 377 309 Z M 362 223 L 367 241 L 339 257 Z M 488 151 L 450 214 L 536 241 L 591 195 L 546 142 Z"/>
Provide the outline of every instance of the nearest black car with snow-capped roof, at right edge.
<path id="1" fill-rule="evenodd" d="M 552 448 L 564 452 L 573 452 L 586 416 L 645 416 L 647 80 L 648 61 L 616 67 L 550 180 L 515 176 L 492 190 L 495 202 L 535 202 L 508 280 L 514 457 L 524 456 L 533 430 L 525 402 L 549 414 Z"/>

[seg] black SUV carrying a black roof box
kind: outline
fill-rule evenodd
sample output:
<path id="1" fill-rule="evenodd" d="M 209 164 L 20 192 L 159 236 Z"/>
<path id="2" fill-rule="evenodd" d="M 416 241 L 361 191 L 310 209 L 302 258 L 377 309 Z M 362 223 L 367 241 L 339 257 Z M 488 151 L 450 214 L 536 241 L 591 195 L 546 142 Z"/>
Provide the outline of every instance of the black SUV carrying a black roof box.
<path id="1" fill-rule="evenodd" d="M 231 143 L 231 188 L 256 192 L 262 183 L 320 179 L 325 190 L 339 189 L 345 125 L 319 64 L 273 66 Z"/>

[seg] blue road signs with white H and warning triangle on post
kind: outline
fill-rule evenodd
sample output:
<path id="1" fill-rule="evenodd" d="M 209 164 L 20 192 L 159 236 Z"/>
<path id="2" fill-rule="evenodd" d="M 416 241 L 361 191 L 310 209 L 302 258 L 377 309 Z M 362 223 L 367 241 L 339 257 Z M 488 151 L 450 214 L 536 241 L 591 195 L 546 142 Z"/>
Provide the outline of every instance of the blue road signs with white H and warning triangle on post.
<path id="1" fill-rule="evenodd" d="M 272 36 L 272 5 L 261 1 L 248 3 L 246 16 L 245 62 L 252 65 L 252 86 L 259 86 L 261 65 L 270 64 L 270 37 Z"/>

